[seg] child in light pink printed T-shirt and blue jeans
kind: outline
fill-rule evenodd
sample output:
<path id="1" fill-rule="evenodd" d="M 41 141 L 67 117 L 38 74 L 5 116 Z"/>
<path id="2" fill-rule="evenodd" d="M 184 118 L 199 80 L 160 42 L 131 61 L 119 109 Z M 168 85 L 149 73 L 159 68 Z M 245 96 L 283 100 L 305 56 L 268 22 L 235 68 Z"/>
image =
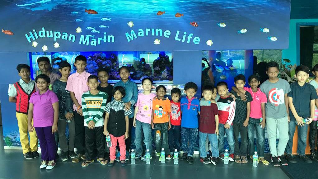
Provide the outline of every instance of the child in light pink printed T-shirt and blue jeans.
<path id="1" fill-rule="evenodd" d="M 136 160 L 145 160 L 142 156 L 142 133 L 144 136 L 143 142 L 146 149 L 149 149 L 150 158 L 152 158 L 152 135 L 151 135 L 151 119 L 152 119 L 152 102 L 156 97 L 155 93 L 151 93 L 152 79 L 142 79 L 142 87 L 144 92 L 138 94 L 138 100 L 135 104 L 135 115 L 133 126 L 135 128 L 135 146 L 136 146 Z"/>

